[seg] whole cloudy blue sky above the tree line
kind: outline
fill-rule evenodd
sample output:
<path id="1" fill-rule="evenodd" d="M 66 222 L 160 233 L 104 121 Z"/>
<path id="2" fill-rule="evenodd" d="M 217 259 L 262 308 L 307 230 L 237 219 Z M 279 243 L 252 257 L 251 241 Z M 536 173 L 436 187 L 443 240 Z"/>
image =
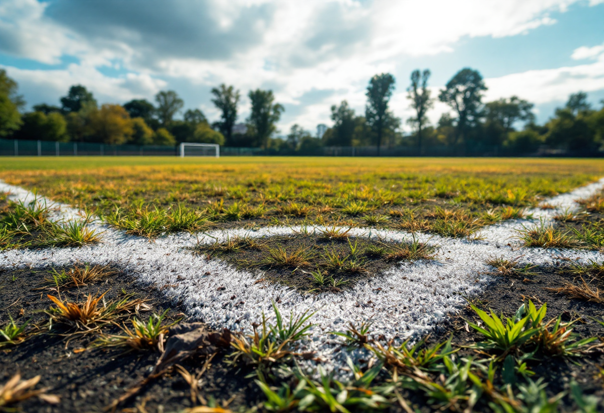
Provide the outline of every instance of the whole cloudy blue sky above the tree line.
<path id="1" fill-rule="evenodd" d="M 28 108 L 59 104 L 74 84 L 99 103 L 171 89 L 214 121 L 210 91 L 226 83 L 245 121 L 248 92 L 271 89 L 283 134 L 330 126 L 342 100 L 364 114 L 382 72 L 396 78 L 390 108 L 404 121 L 411 71 L 430 69 L 436 97 L 470 67 L 484 101 L 517 95 L 543 123 L 577 91 L 602 105 L 604 0 L 0 0 L 0 67 Z M 437 102 L 428 117 L 448 110 Z"/>

